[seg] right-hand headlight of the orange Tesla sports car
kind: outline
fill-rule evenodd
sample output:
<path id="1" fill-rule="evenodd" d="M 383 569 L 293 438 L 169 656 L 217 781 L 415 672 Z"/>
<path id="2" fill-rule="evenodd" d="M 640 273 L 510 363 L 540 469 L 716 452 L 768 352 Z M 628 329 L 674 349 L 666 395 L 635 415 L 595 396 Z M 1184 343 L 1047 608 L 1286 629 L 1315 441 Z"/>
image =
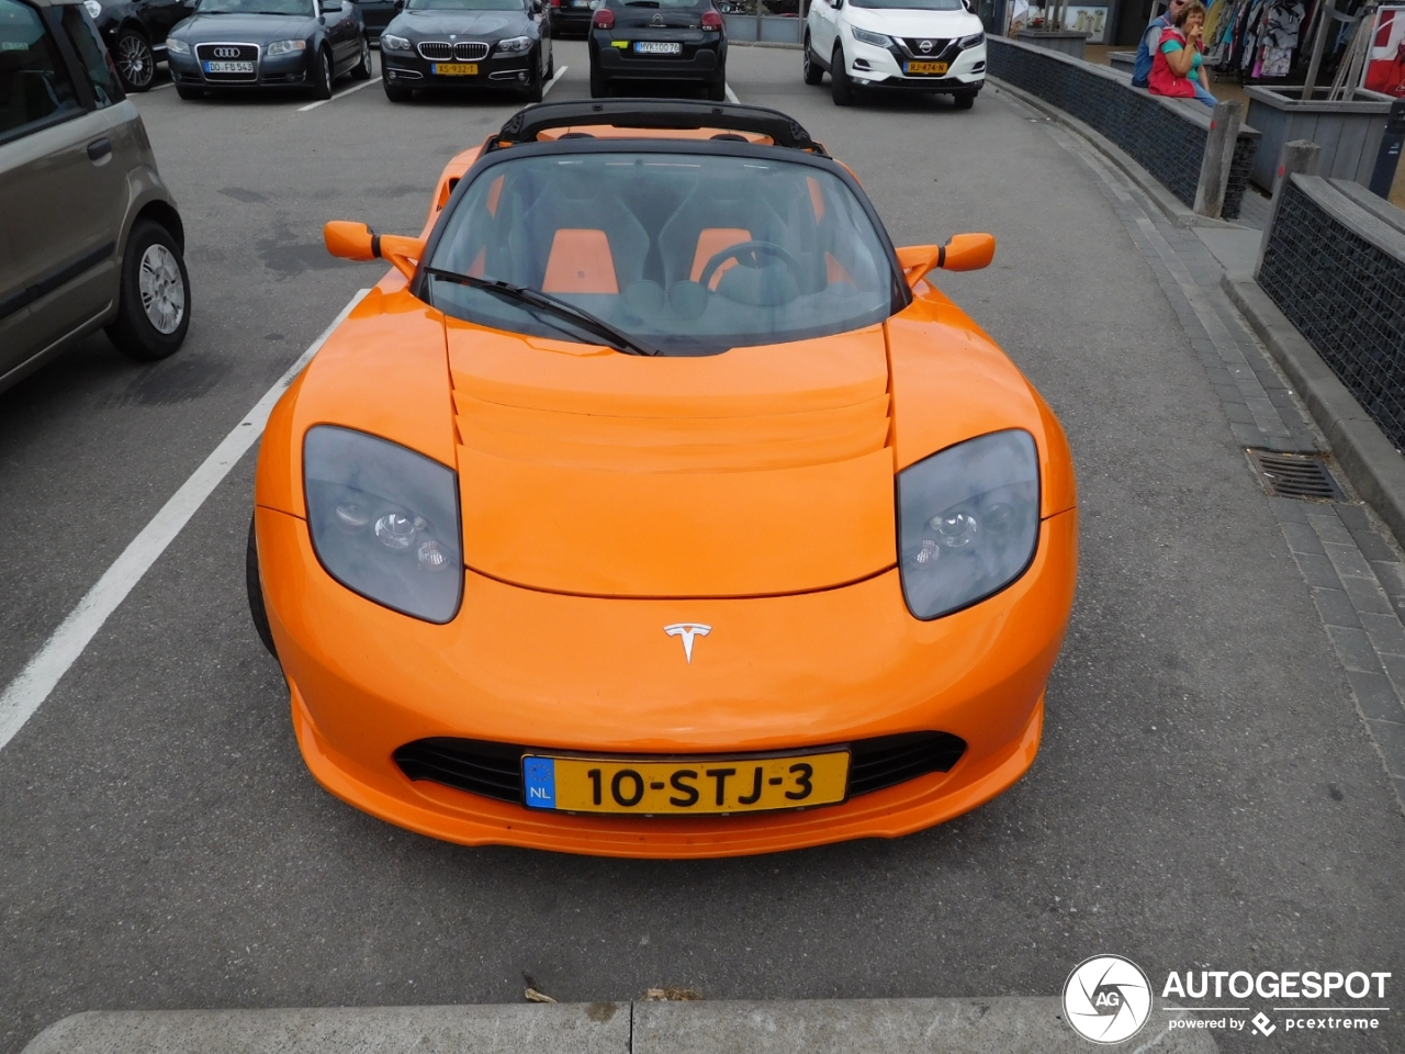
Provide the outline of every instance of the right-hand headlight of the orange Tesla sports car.
<path id="1" fill-rule="evenodd" d="M 898 474 L 898 566 L 917 618 L 1005 589 L 1038 540 L 1040 458 L 1027 431 L 967 440 Z"/>

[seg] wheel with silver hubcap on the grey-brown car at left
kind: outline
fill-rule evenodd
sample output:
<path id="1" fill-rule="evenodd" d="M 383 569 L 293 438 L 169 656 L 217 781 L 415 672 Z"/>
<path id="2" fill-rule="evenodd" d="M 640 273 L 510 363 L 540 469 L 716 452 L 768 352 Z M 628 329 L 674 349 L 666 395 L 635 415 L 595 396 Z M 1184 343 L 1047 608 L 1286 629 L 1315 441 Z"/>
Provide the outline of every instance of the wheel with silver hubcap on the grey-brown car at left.
<path id="1" fill-rule="evenodd" d="M 190 329 L 190 275 L 180 246 L 160 223 L 132 225 L 118 297 L 117 319 L 107 327 L 117 350 L 142 363 L 176 354 Z"/>

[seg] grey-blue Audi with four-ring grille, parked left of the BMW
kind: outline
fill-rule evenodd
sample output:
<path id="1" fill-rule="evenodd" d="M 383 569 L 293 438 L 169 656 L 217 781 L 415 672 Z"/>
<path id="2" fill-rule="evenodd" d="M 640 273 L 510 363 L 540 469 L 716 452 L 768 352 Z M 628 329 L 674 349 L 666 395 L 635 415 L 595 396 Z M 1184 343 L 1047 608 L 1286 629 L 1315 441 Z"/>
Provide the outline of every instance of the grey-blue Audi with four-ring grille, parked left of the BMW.
<path id="1" fill-rule="evenodd" d="M 253 87 L 332 98 L 343 73 L 370 80 L 371 48 L 351 0 L 198 0 L 166 38 L 166 63 L 181 98 Z"/>

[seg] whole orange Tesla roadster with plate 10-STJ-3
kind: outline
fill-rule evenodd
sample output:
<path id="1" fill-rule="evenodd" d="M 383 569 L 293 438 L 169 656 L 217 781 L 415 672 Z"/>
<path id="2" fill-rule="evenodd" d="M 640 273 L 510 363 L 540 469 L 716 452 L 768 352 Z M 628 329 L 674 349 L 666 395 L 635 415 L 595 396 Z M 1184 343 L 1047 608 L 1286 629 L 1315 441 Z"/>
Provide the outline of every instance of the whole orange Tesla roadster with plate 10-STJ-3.
<path id="1" fill-rule="evenodd" d="M 905 835 L 1030 767 L 1073 601 L 1038 392 L 771 110 L 531 107 L 278 402 L 254 623 L 329 791 L 466 845 Z"/>

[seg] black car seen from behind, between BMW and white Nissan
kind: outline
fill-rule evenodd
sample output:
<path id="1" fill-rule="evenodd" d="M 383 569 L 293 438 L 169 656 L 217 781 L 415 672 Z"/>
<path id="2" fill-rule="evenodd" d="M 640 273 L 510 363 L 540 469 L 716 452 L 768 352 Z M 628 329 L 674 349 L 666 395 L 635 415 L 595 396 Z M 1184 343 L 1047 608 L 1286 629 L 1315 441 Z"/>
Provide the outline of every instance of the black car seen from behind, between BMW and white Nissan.
<path id="1" fill-rule="evenodd" d="M 621 80 L 674 80 L 726 98 L 726 25 L 712 0 L 603 0 L 590 22 L 590 94 Z"/>

